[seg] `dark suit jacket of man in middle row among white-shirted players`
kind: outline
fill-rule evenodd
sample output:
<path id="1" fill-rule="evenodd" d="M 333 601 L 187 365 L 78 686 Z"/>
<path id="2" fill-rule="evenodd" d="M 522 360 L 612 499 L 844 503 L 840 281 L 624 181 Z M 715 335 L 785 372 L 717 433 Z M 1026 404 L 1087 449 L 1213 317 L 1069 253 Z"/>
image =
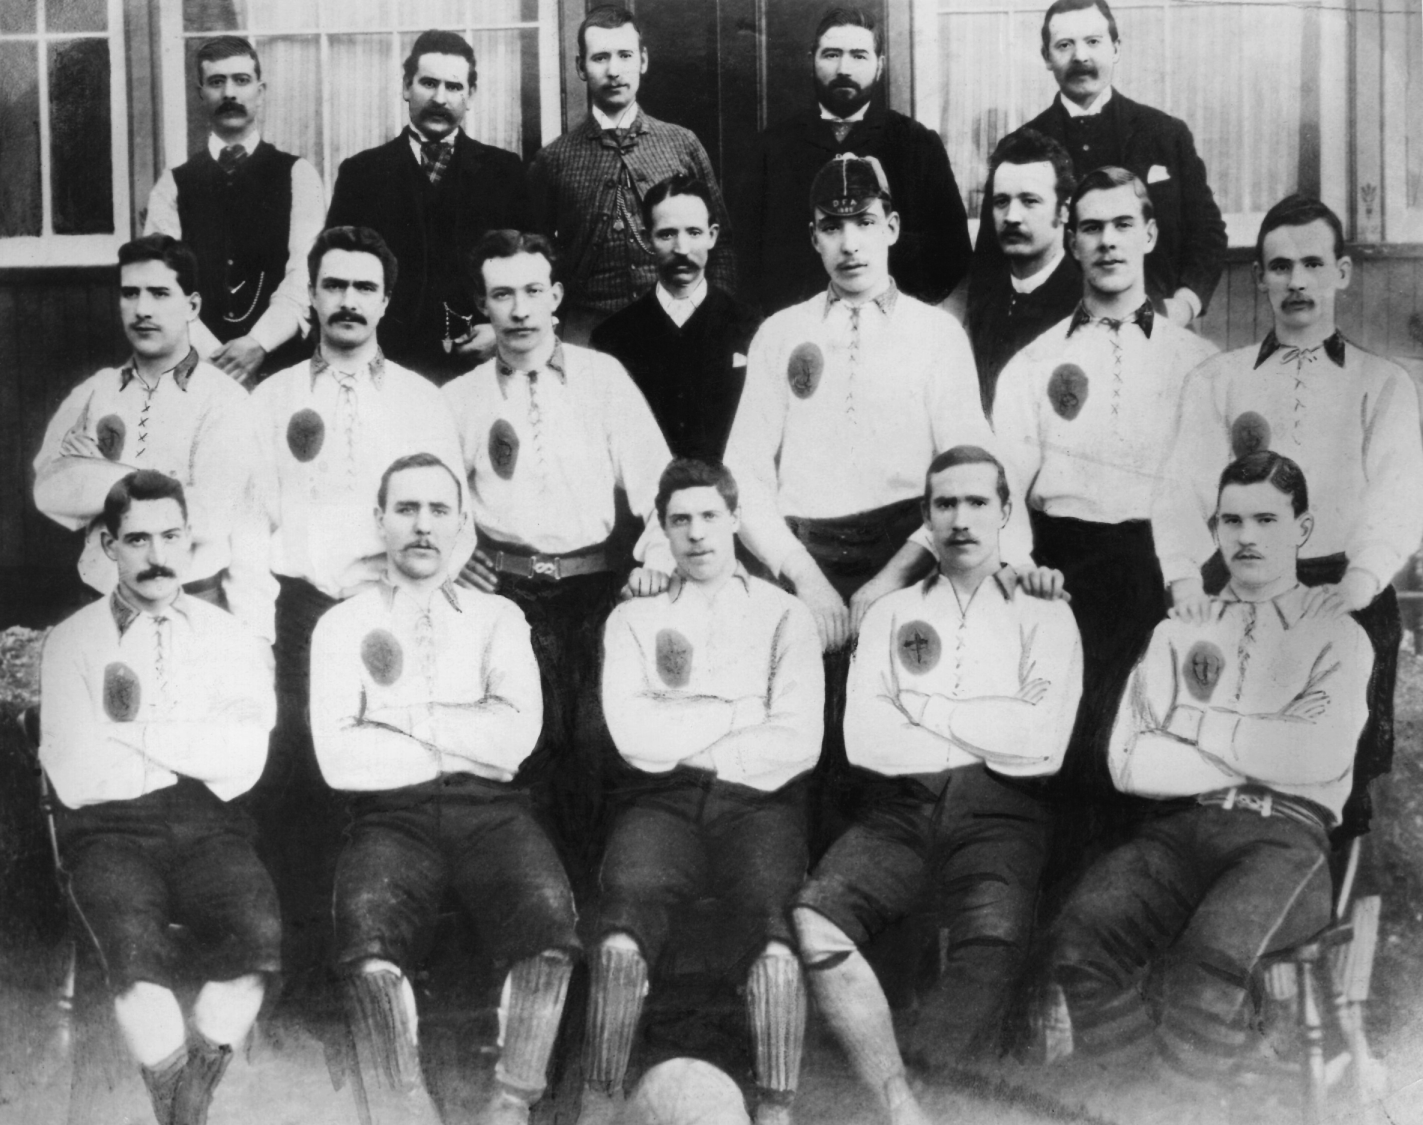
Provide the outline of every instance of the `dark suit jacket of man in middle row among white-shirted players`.
<path id="1" fill-rule="evenodd" d="M 758 324 L 741 302 L 707 286 L 706 299 L 679 329 L 652 289 L 599 324 L 592 346 L 628 368 L 673 457 L 720 459 Z"/>

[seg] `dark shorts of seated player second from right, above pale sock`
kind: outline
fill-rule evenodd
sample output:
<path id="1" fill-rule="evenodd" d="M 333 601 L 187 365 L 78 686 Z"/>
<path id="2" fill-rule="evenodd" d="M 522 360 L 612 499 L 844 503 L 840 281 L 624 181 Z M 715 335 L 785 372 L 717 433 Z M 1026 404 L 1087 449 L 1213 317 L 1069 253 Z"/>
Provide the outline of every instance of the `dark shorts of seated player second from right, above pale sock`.
<path id="1" fill-rule="evenodd" d="M 881 779 L 795 906 L 857 944 L 925 905 L 951 942 L 985 929 L 1026 944 L 1050 822 L 1052 808 L 1029 784 L 983 765 L 951 771 L 941 796 L 911 778 Z"/>

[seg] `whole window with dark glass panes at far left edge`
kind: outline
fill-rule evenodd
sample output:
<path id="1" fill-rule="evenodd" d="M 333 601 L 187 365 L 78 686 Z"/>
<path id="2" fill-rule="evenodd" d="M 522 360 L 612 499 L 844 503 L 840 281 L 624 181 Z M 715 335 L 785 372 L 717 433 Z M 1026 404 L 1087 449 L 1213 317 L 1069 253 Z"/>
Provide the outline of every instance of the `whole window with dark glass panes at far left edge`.
<path id="1" fill-rule="evenodd" d="M 121 0 L 0 0 L 0 266 L 112 260 L 128 235 Z"/>

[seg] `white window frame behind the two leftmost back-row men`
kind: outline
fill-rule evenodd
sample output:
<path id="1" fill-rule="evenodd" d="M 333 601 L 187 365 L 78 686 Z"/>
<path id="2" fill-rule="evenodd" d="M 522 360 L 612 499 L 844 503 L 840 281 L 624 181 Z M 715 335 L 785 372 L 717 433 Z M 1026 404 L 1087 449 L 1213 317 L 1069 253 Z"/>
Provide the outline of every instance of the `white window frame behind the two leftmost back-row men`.
<path id="1" fill-rule="evenodd" d="M 400 48 L 401 36 L 420 34 L 425 31 L 430 24 L 428 21 L 411 21 L 408 13 L 401 13 L 406 16 L 404 20 L 397 20 L 390 26 L 383 26 L 379 28 L 373 27 L 351 27 L 340 20 L 342 4 L 337 0 L 317 0 L 319 4 L 319 26 L 317 27 L 295 27 L 295 28 L 272 28 L 272 30 L 256 30 L 256 31 L 185 31 L 182 26 L 182 0 L 158 0 L 159 11 L 159 41 L 162 44 L 159 51 L 159 91 L 162 100 L 162 162 L 165 168 L 176 168 L 179 164 L 188 159 L 188 88 L 186 84 L 191 81 L 191 75 L 186 70 L 186 43 L 189 40 L 205 40 L 212 38 L 218 34 L 238 34 L 246 38 L 253 38 L 258 41 L 258 50 L 260 50 L 260 40 L 269 38 L 272 36 L 280 36 L 285 38 L 297 37 L 313 37 L 317 38 L 317 50 L 320 53 L 322 65 L 327 64 L 329 58 L 329 40 L 333 36 L 384 36 L 390 40 L 393 55 L 400 60 L 403 58 L 403 51 Z M 470 23 L 464 27 L 451 28 L 457 34 L 468 38 L 472 31 L 528 31 L 532 30 L 538 36 L 538 91 L 539 91 L 539 144 L 546 145 L 555 137 L 564 131 L 564 105 L 562 105 L 562 80 L 559 74 L 559 51 L 558 51 L 558 3 L 559 0 L 538 0 L 538 14 L 534 20 L 490 20 L 485 23 Z M 404 101 L 401 100 L 400 85 L 396 84 L 390 90 L 391 101 L 396 104 L 396 119 L 404 119 L 406 110 Z M 332 191 L 336 186 L 336 169 L 332 166 L 333 162 L 333 134 L 330 128 L 324 128 L 326 122 L 332 118 L 332 104 L 330 104 L 330 88 L 329 84 L 322 85 L 322 152 L 320 155 L 320 171 L 322 183 L 326 192 L 326 202 L 330 203 Z M 317 154 L 297 154 L 312 159 Z M 316 164 L 316 161 L 312 161 Z"/>

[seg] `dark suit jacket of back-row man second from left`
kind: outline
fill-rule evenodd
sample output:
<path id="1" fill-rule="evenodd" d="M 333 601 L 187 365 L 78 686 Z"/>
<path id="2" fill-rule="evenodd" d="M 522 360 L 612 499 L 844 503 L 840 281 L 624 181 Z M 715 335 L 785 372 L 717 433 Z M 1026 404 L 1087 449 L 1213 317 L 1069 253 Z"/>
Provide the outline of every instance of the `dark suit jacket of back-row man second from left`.
<path id="1" fill-rule="evenodd" d="M 437 381 L 470 367 L 468 360 L 447 356 L 441 347 L 443 303 L 461 317 L 475 311 L 474 279 L 465 262 L 470 250 L 487 230 L 532 226 L 524 162 L 512 152 L 461 131 L 441 186 L 448 188 L 447 215 L 434 220 L 430 181 L 410 151 L 408 132 L 401 131 L 396 139 L 342 162 L 326 215 L 327 226 L 369 226 L 386 239 L 400 272 L 380 321 L 381 350 Z M 450 329 L 460 336 L 465 321 Z"/>

